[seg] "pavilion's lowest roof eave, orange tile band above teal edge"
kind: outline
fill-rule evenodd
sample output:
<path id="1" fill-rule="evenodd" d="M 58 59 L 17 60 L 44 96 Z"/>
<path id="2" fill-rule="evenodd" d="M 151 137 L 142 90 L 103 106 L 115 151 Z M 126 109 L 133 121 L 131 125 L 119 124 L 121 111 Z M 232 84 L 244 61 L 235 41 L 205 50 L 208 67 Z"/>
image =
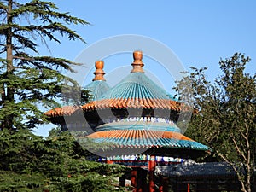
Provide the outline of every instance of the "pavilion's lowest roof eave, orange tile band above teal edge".
<path id="1" fill-rule="evenodd" d="M 96 143 L 111 143 L 112 148 L 183 148 L 211 151 L 183 134 L 173 131 L 113 130 L 97 131 L 86 138 Z"/>

